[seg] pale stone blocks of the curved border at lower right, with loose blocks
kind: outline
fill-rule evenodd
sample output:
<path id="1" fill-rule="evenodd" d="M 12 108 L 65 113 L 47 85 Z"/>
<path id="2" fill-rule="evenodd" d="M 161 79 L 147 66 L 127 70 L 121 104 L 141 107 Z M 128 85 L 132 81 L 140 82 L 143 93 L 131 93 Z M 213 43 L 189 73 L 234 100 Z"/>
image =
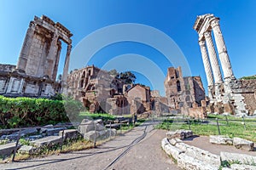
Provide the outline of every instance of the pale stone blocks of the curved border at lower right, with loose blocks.
<path id="1" fill-rule="evenodd" d="M 223 167 L 226 170 L 253 170 L 256 169 L 256 156 L 248 156 L 242 154 L 221 152 L 220 156 L 210 153 L 207 150 L 201 150 L 195 146 L 184 144 L 183 139 L 187 134 L 189 137 L 193 135 L 192 131 L 177 130 L 175 132 L 166 133 L 166 138 L 162 139 L 161 147 L 168 156 L 171 156 L 177 166 L 183 169 L 194 170 L 218 170 L 225 162 L 230 167 Z M 224 136 L 212 136 L 212 142 L 219 144 L 230 144 L 232 139 Z M 243 141 L 243 140 L 242 140 Z M 234 162 L 239 162 L 236 164 Z"/>

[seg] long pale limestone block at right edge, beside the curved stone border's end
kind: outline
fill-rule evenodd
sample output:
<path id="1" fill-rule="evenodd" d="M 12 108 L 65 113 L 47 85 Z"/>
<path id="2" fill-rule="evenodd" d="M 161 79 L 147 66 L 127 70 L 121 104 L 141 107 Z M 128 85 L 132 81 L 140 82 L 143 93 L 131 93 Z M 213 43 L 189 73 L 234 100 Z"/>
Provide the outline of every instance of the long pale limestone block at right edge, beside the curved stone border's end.
<path id="1" fill-rule="evenodd" d="M 251 164 L 256 162 L 256 156 L 249 156 L 246 154 L 237 154 L 230 152 L 220 152 L 221 161 L 239 161 L 242 164 Z"/>

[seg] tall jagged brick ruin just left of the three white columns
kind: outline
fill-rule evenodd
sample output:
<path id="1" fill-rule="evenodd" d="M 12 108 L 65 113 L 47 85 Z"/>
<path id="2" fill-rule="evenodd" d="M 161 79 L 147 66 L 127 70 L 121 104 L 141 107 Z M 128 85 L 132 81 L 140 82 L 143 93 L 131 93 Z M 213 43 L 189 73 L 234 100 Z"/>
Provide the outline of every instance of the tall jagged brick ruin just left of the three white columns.
<path id="1" fill-rule="evenodd" d="M 183 77 L 181 67 L 168 68 L 165 89 L 170 110 L 185 115 L 189 115 L 190 108 L 201 107 L 206 99 L 201 77 Z"/>

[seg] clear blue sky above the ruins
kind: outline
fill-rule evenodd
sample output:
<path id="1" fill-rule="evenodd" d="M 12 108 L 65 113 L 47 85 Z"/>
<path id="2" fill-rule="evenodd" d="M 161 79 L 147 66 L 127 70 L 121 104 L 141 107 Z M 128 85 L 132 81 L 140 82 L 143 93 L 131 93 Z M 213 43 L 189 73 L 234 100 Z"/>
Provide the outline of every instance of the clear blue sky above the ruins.
<path id="1" fill-rule="evenodd" d="M 201 76 L 205 88 L 207 80 L 198 45 L 198 35 L 193 30 L 197 15 L 215 14 L 220 18 L 224 41 L 236 77 L 256 74 L 256 1 L 0 1 L 0 63 L 16 65 L 29 21 L 34 15 L 45 14 L 60 22 L 73 33 L 73 49 L 90 33 L 105 26 L 121 23 L 138 23 L 152 26 L 172 38 L 183 52 L 193 76 Z M 154 37 L 152 37 L 154 38 Z M 61 53 L 60 72 L 65 55 Z M 117 42 L 102 48 L 89 64 L 102 67 L 109 59 L 122 54 L 139 54 L 151 59 L 166 74 L 172 66 L 163 54 L 137 42 Z M 81 56 L 81 62 L 83 56 Z M 120 63 L 125 65 L 125 63 Z M 150 71 L 150 68 L 146 68 Z M 160 82 L 163 80 L 160 79 Z M 150 80 L 137 75 L 137 82 Z M 152 86 L 152 85 L 151 85 Z M 160 89 L 164 94 L 164 88 Z"/>

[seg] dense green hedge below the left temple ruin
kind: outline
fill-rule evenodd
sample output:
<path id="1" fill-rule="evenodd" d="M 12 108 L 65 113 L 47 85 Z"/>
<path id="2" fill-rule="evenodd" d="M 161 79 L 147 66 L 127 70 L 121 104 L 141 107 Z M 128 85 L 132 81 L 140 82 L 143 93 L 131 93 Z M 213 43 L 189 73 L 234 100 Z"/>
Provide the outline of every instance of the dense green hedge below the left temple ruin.
<path id="1" fill-rule="evenodd" d="M 80 102 L 73 99 L 52 100 L 32 98 L 6 98 L 0 96 L 0 123 L 4 127 L 39 126 L 67 122 L 64 105 L 79 115 Z"/>

